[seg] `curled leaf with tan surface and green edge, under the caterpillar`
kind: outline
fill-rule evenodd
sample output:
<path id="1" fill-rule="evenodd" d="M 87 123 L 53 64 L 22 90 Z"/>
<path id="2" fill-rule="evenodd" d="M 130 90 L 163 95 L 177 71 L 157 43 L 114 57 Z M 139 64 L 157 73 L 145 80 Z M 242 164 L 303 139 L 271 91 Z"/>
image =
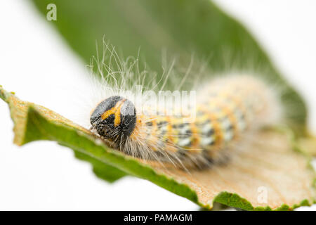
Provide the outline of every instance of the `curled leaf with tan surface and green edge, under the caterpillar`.
<path id="1" fill-rule="evenodd" d="M 231 158 L 227 165 L 187 173 L 145 164 L 112 150 L 86 129 L 40 105 L 20 101 L 1 86 L 0 98 L 9 105 L 16 144 L 57 141 L 75 150 L 79 158 L 87 160 L 88 156 L 88 161 L 97 162 L 102 168 L 98 170 L 100 177 L 105 173 L 108 178 L 107 169 L 117 168 L 209 209 L 213 203 L 221 203 L 243 210 L 293 210 L 315 200 L 315 172 L 308 166 L 309 159 L 292 144 L 289 133 L 262 131 L 254 141 L 249 140 L 249 149 Z M 258 187 L 268 191 L 267 203 L 258 201 Z"/>

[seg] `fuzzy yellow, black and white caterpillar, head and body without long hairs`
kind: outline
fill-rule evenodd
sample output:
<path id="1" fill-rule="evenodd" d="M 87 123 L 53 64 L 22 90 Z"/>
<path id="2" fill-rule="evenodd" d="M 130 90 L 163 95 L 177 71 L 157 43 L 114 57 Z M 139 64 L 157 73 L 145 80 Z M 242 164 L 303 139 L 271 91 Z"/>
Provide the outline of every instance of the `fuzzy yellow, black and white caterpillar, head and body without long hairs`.
<path id="1" fill-rule="evenodd" d="M 277 122 L 279 111 L 274 92 L 261 79 L 228 76 L 197 92 L 194 120 L 150 115 L 127 98 L 110 96 L 96 106 L 90 122 L 96 134 L 127 155 L 204 168 L 223 160 L 246 134 Z"/>

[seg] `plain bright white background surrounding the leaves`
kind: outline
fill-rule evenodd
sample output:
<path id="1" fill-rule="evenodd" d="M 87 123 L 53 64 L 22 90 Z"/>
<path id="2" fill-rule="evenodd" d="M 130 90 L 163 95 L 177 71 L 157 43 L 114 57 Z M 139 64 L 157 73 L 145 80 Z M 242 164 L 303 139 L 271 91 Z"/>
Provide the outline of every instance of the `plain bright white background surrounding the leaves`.
<path id="1" fill-rule="evenodd" d="M 249 28 L 301 92 L 310 110 L 310 129 L 316 132 L 316 2 L 216 2 Z M 84 86 L 86 81 L 79 58 L 27 1 L 0 1 L 0 29 L 0 84 L 24 100 L 71 115 L 68 84 Z M 198 209 L 149 181 L 126 177 L 107 184 L 56 143 L 18 148 L 12 128 L 8 107 L 0 101 L 0 210 Z"/>

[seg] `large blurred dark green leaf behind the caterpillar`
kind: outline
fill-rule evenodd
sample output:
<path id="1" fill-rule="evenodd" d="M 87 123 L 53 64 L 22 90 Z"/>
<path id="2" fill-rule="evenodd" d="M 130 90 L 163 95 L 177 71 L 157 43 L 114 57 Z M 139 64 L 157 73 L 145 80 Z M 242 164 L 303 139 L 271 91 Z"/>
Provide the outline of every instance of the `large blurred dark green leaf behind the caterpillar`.
<path id="1" fill-rule="evenodd" d="M 192 54 L 207 59 L 210 77 L 229 70 L 263 75 L 282 90 L 288 123 L 305 134 L 306 108 L 294 89 L 282 79 L 254 37 L 210 0 L 32 0 L 45 15 L 48 4 L 56 4 L 57 21 L 51 21 L 72 49 L 90 64 L 96 55 L 96 40 L 103 37 L 124 56 L 138 56 L 162 75 L 162 51 L 187 66 Z M 102 52 L 102 44 L 99 45 Z M 195 77 L 192 77 L 193 79 Z M 147 79 L 150 82 L 151 79 Z M 190 88 L 187 79 L 183 89 Z"/>

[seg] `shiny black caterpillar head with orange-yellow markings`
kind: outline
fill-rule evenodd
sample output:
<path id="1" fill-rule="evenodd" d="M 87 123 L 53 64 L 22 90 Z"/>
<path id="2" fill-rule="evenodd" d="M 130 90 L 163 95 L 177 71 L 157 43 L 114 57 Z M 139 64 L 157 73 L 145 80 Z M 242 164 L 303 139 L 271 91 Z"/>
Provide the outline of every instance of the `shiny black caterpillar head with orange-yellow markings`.
<path id="1" fill-rule="evenodd" d="M 130 136 L 136 126 L 136 108 L 128 99 L 112 96 L 97 105 L 90 123 L 103 139 L 121 140 Z"/>

